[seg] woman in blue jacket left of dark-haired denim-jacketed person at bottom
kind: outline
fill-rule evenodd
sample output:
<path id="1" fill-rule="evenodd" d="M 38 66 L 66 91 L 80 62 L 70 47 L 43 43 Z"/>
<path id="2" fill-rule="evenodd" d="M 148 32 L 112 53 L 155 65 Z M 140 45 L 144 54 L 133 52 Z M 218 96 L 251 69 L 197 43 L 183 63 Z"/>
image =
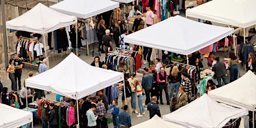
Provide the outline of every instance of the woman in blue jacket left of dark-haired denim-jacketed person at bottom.
<path id="1" fill-rule="evenodd" d="M 113 120 L 113 125 L 115 128 L 120 128 L 119 124 L 119 106 L 117 103 L 117 100 L 114 99 L 112 101 L 112 105 L 110 105 L 110 111 L 112 114 L 112 120 Z"/>

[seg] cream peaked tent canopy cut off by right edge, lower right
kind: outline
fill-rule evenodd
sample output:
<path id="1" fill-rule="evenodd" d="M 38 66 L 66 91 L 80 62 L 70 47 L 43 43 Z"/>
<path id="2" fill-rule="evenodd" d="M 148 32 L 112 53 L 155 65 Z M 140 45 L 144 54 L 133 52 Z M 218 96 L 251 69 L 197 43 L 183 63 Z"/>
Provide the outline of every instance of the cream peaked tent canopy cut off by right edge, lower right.
<path id="1" fill-rule="evenodd" d="M 248 71 L 238 80 L 208 93 L 209 97 L 224 104 L 255 111 L 256 76 Z M 230 93 L 233 92 L 233 93 Z"/>

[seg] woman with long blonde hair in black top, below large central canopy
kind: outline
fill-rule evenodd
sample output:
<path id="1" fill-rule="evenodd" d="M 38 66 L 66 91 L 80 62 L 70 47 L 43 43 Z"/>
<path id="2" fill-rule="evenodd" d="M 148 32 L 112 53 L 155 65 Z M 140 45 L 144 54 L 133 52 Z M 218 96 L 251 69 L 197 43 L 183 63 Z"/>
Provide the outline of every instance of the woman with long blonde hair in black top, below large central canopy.
<path id="1" fill-rule="evenodd" d="M 178 92 L 179 92 L 181 73 L 179 71 L 178 66 L 174 66 L 173 70 L 171 70 L 170 80 L 171 80 L 171 91 L 169 93 L 169 100 L 171 100 L 171 96 L 173 96 L 174 88 L 175 88 L 175 93 L 176 93 L 175 97 L 177 97 Z"/>

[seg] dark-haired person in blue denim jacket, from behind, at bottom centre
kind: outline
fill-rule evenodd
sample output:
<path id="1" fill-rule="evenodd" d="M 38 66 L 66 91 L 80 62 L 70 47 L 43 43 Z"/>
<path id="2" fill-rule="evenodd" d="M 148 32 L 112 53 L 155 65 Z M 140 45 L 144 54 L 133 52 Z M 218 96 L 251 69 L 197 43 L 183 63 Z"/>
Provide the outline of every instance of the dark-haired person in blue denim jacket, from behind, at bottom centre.
<path id="1" fill-rule="evenodd" d="M 120 126 L 121 128 L 129 128 L 131 127 L 131 116 L 127 113 L 128 106 L 124 106 L 124 111 L 120 112 L 119 119 L 120 119 Z"/>

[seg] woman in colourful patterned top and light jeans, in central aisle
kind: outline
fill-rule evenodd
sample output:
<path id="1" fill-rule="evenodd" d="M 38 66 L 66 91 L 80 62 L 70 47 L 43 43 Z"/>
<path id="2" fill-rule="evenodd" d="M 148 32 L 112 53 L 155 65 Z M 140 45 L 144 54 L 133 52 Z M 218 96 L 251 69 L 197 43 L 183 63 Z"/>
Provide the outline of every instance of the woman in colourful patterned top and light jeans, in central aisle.
<path id="1" fill-rule="evenodd" d="M 142 101 L 143 101 L 142 86 L 140 85 L 138 80 L 134 80 L 134 85 L 136 86 L 136 95 L 138 97 L 138 105 L 139 105 L 139 109 L 140 109 L 140 114 L 137 115 L 137 117 L 141 117 L 141 116 L 143 116 L 143 114 L 145 114 L 144 107 L 142 104 Z"/>

